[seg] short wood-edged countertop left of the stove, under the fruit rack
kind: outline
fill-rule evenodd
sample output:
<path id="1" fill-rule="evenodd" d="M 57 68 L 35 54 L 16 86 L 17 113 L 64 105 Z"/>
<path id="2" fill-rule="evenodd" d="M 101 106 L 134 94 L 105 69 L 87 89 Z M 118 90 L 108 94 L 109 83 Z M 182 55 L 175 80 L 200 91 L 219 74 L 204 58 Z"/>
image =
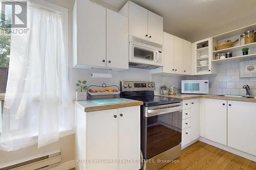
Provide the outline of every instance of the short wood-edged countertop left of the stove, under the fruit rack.
<path id="1" fill-rule="evenodd" d="M 123 99 L 123 98 L 74 101 L 74 103 L 82 107 L 84 109 L 84 112 L 93 112 L 93 111 L 100 111 L 100 110 L 109 110 L 109 109 L 143 105 L 143 102 L 141 101 L 135 101 L 135 100 Z"/>

